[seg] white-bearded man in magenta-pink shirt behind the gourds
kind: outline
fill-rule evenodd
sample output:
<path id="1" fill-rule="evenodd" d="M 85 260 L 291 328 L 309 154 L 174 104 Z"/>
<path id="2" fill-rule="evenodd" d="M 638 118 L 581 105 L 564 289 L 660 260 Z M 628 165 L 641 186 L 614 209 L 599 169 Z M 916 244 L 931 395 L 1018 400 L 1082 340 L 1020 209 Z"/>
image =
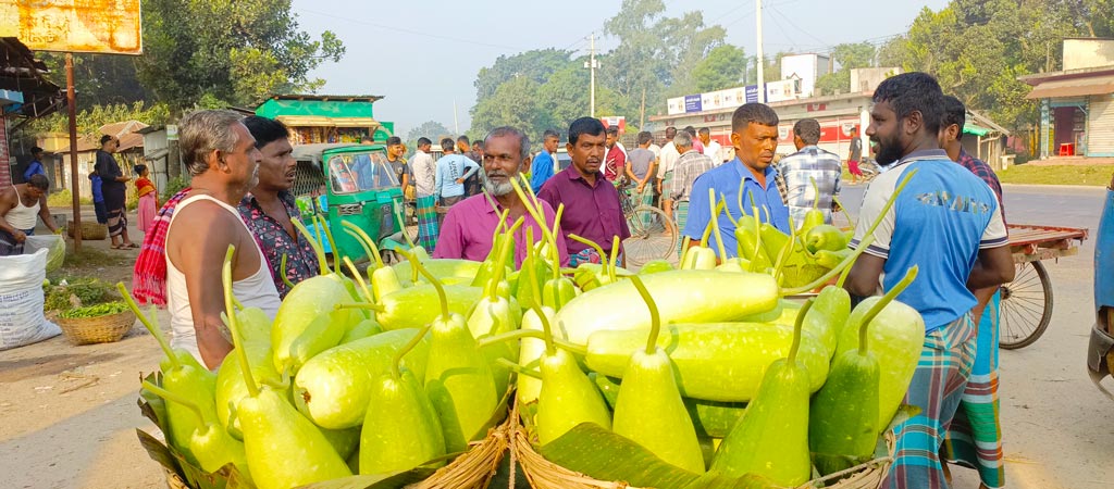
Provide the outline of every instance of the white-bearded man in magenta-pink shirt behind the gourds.
<path id="1" fill-rule="evenodd" d="M 511 178 L 518 178 L 522 188 L 529 182 L 522 179 L 522 163 L 529 156 L 530 139 L 525 133 L 512 127 L 500 127 L 488 133 L 483 144 L 483 192 L 452 206 L 444 217 L 441 235 L 433 250 L 434 258 L 465 258 L 481 262 L 491 252 L 491 235 L 499 225 L 499 216 L 504 209 L 509 209 L 507 227 L 519 217 L 525 217 L 522 227 L 515 234 L 515 267 L 526 258 L 526 229 L 532 228 L 534 241 L 544 239 L 541 227 L 529 213 L 526 204 L 518 198 L 518 193 L 510 185 Z M 538 201 L 541 212 L 550 229 L 555 226 L 556 216 L 553 207 L 545 201 Z M 560 254 L 560 265 L 568 266 L 568 251 L 565 239 L 557 239 L 557 252 Z"/>

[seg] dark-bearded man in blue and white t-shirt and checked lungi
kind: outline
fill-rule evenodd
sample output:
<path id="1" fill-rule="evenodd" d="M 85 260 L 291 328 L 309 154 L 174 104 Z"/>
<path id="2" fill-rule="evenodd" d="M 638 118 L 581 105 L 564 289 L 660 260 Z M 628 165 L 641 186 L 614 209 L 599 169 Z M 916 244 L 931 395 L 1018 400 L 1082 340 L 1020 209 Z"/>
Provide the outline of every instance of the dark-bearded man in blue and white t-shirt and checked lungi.
<path id="1" fill-rule="evenodd" d="M 936 79 L 898 75 L 878 86 L 873 101 L 867 135 L 878 144 L 878 163 L 893 166 L 867 189 L 852 247 L 862 243 L 902 178 L 917 173 L 882 215 L 847 288 L 857 299 L 874 295 L 879 284 L 888 291 L 919 267 L 898 300 L 925 320 L 925 346 L 905 398 L 921 413 L 896 428 L 885 487 L 942 488 L 938 451 L 975 358 L 971 291 L 1012 281 L 1014 262 L 994 192 L 940 149 L 944 94 Z"/>

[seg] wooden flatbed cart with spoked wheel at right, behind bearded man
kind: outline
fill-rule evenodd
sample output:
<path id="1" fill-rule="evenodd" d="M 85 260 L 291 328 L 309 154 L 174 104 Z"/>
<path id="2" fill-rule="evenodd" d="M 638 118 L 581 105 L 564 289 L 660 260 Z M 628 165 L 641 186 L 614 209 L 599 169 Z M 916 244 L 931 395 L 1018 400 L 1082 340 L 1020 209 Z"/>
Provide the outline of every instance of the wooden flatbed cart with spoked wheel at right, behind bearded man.
<path id="1" fill-rule="evenodd" d="M 998 345 L 1016 350 L 1037 341 L 1052 321 L 1052 278 L 1040 262 L 1078 254 L 1087 229 L 1028 224 L 1006 227 L 1017 273 L 1013 282 L 1001 285 Z"/>

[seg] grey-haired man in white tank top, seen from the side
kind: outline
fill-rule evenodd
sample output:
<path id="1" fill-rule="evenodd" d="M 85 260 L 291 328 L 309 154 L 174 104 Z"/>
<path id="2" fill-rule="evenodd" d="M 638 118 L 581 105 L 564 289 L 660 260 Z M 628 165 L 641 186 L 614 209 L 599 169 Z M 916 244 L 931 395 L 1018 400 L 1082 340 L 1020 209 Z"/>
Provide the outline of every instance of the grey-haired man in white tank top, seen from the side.
<path id="1" fill-rule="evenodd" d="M 233 295 L 272 319 L 278 311 L 278 290 L 266 258 L 236 209 L 255 186 L 262 159 L 241 119 L 231 110 L 198 110 L 178 123 L 193 189 L 177 204 L 166 229 L 170 344 L 189 351 L 209 369 L 217 368 L 232 350 L 221 320 L 221 270 L 228 245 L 236 246 Z"/>

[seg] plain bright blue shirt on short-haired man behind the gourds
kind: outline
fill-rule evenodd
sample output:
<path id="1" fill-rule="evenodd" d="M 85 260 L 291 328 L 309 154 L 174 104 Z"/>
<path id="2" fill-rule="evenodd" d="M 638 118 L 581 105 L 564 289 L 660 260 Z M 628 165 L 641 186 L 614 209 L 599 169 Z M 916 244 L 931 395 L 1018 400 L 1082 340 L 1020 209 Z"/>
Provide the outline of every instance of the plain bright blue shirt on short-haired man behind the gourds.
<path id="1" fill-rule="evenodd" d="M 688 218 L 682 234 L 693 239 L 700 239 L 704 235 L 704 228 L 712 222 L 712 208 L 707 198 L 709 188 L 715 189 L 717 201 L 726 199 L 727 202 L 724 212 L 721 212 L 717 217 L 720 232 L 723 235 L 724 251 L 727 253 L 726 258 L 739 256 L 735 226 L 731 224 L 727 214 L 730 213 L 735 221 L 750 216 L 751 196 L 754 197 L 754 205 L 759 207 L 759 217 L 762 222 L 769 222 L 788 234 L 789 208 L 785 207 L 784 201 L 781 199 L 781 193 L 778 192 L 778 184 L 774 180 L 778 170 L 774 169 L 773 165 L 768 166 L 765 187 L 762 187 L 739 158 L 705 172 L 693 183 L 693 189 L 688 196 Z M 742 208 L 739 207 L 740 182 L 743 183 Z M 769 214 L 762 211 L 763 207 L 769 211 Z M 720 248 L 714 232 L 709 238 L 709 246 L 719 253 Z"/>

